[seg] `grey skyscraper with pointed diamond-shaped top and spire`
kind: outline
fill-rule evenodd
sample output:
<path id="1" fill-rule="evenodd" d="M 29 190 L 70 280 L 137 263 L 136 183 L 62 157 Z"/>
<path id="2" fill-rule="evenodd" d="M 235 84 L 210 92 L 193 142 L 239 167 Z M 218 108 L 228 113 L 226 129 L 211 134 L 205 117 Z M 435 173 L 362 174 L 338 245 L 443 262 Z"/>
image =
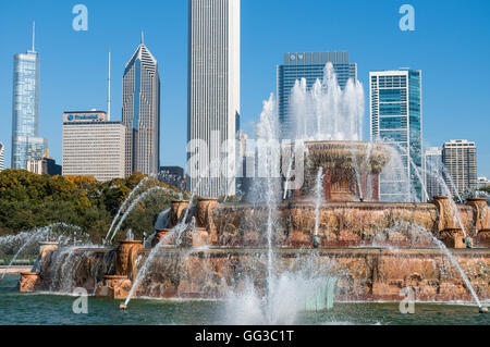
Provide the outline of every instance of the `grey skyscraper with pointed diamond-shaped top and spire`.
<path id="1" fill-rule="evenodd" d="M 125 175 L 146 175 L 160 168 L 160 76 L 158 63 L 142 44 L 127 61 L 123 76 L 122 123 L 126 127 Z"/>

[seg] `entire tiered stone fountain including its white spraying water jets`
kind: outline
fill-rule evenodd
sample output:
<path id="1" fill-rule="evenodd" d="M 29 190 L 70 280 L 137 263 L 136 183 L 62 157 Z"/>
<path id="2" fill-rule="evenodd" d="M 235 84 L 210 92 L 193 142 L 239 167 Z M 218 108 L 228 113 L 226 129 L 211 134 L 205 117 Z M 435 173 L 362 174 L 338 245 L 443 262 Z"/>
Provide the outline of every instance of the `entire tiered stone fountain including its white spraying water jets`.
<path id="1" fill-rule="evenodd" d="M 293 89 L 301 188 L 262 178 L 246 203 L 176 199 L 145 243 L 130 235 L 114 248 L 44 244 L 20 290 L 84 287 L 123 300 L 122 309 L 132 298 L 222 299 L 230 314 L 267 323 L 340 301 L 401 301 L 407 288 L 419 302 L 474 302 L 486 312 L 487 199 L 456 205 L 446 187 L 430 202 L 380 201 L 380 176 L 399 151 L 362 141 L 363 88 L 350 82 L 341 90 L 326 70 L 311 90 L 304 80 Z M 266 144 L 279 138 L 274 104 L 265 102 L 257 128 Z M 279 170 L 272 159 L 262 164 Z"/>

